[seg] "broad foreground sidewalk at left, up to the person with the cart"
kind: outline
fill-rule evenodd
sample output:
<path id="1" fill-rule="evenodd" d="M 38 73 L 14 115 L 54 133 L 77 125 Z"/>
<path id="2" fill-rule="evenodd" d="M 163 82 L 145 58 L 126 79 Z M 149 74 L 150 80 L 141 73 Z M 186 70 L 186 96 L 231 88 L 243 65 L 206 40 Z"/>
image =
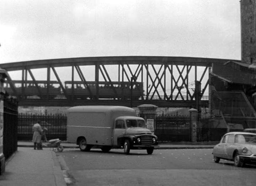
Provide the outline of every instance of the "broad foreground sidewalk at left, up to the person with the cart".
<path id="1" fill-rule="evenodd" d="M 49 148 L 34 150 L 30 147 L 18 147 L 6 161 L 0 185 L 66 186 L 66 183 L 55 152 Z"/>

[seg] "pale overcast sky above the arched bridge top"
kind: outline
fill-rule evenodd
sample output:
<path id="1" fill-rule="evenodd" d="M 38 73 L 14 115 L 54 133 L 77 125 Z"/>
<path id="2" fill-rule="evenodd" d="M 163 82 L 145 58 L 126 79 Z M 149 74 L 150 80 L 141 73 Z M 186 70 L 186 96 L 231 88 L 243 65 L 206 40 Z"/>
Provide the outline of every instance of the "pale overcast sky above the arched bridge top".
<path id="1" fill-rule="evenodd" d="M 1 0 L 0 63 L 91 56 L 241 59 L 239 0 Z"/>

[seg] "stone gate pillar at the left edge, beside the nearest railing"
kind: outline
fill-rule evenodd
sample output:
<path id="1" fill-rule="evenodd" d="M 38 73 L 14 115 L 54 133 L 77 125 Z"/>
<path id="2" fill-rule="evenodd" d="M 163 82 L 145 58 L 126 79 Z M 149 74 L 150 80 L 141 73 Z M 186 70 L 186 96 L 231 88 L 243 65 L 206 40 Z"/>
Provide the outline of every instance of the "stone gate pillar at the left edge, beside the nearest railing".
<path id="1" fill-rule="evenodd" d="M 4 140 L 4 80 L 7 72 L 0 68 L 0 175 L 5 171 Z"/>

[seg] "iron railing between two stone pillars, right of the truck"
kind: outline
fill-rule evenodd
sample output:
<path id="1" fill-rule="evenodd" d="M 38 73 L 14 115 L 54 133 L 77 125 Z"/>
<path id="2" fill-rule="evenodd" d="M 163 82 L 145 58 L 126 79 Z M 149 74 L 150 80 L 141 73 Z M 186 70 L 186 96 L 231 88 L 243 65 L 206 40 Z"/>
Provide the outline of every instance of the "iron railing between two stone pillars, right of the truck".
<path id="1" fill-rule="evenodd" d="M 191 141 L 191 117 L 189 115 L 156 116 L 155 135 L 159 142 Z"/>

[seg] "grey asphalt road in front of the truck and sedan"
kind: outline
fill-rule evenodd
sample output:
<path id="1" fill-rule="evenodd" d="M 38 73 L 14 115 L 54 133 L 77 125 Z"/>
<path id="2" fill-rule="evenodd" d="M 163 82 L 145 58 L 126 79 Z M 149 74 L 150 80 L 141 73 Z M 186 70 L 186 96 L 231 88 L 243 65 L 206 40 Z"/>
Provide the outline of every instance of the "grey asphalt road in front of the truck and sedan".
<path id="1" fill-rule="evenodd" d="M 57 153 L 68 185 L 255 185 L 256 167 L 213 162 L 212 149 L 122 150 L 103 153 L 65 149 Z"/>

